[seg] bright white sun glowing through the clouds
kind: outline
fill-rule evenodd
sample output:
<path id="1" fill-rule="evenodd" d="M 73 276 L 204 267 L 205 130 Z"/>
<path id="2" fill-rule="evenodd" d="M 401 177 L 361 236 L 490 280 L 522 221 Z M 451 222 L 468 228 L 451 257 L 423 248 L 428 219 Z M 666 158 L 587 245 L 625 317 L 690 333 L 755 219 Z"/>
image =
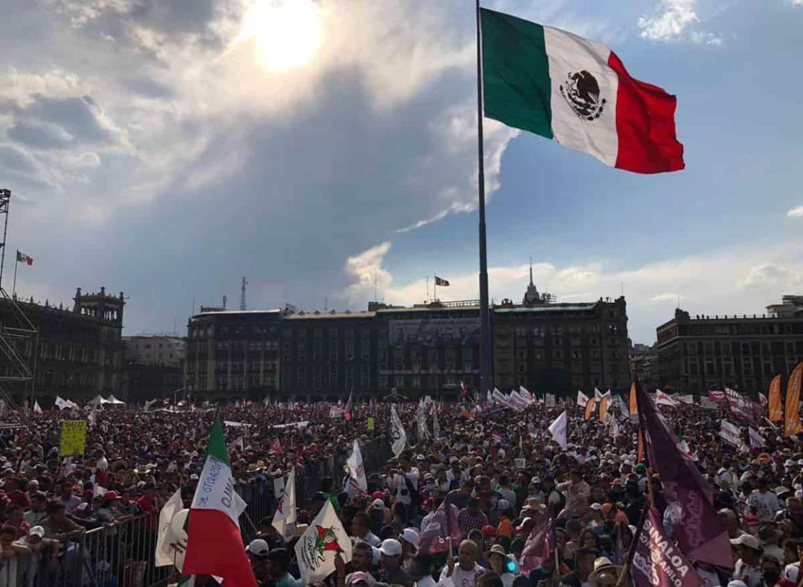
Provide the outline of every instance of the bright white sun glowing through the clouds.
<path id="1" fill-rule="evenodd" d="M 315 0 L 258 0 L 243 18 L 240 41 L 251 39 L 259 64 L 287 71 L 311 62 L 324 42 Z"/>

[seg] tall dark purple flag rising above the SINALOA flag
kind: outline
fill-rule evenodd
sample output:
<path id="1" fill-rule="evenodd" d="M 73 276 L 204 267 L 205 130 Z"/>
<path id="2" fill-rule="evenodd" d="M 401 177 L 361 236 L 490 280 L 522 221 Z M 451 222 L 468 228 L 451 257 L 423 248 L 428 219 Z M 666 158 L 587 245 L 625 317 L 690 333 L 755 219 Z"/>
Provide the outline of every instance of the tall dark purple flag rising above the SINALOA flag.
<path id="1" fill-rule="evenodd" d="M 692 560 L 732 569 L 728 528 L 716 515 L 714 490 L 691 459 L 679 450 L 675 435 L 664 425 L 641 385 L 637 385 L 636 399 L 647 462 L 661 476 L 666 500 L 678 500 L 683 511 L 672 528 L 672 535 Z"/>

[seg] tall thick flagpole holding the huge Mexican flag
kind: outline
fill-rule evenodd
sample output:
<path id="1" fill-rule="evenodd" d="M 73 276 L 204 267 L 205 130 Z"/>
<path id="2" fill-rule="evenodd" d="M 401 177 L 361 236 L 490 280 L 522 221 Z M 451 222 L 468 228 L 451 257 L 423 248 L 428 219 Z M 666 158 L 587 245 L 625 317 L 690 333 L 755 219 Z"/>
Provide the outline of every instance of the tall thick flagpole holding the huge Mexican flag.
<path id="1" fill-rule="evenodd" d="M 491 363 L 491 314 L 488 311 L 488 258 L 485 237 L 485 156 L 483 152 L 483 47 L 479 0 L 475 0 L 477 22 L 477 192 L 479 196 L 479 386 L 493 387 Z"/>

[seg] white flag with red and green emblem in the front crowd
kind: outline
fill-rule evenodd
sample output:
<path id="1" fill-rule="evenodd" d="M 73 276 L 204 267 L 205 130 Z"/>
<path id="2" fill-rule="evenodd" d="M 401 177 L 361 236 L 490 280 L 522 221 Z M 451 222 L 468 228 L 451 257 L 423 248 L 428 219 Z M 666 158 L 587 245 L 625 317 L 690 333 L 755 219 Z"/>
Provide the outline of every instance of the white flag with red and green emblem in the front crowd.
<path id="1" fill-rule="evenodd" d="M 296 542 L 296 561 L 304 585 L 323 581 L 335 572 L 335 555 L 340 551 L 344 563 L 351 562 L 352 544 L 340 524 L 331 500 L 326 500 L 315 520 Z"/>

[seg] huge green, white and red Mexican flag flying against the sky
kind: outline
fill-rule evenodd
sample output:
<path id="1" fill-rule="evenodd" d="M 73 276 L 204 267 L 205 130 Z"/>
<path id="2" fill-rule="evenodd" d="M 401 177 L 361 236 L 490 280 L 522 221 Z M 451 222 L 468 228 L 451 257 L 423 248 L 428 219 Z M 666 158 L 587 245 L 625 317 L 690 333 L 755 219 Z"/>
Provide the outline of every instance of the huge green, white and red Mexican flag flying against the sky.
<path id="1" fill-rule="evenodd" d="M 481 9 L 485 115 L 610 167 L 683 169 L 674 95 L 630 77 L 602 43 Z"/>

